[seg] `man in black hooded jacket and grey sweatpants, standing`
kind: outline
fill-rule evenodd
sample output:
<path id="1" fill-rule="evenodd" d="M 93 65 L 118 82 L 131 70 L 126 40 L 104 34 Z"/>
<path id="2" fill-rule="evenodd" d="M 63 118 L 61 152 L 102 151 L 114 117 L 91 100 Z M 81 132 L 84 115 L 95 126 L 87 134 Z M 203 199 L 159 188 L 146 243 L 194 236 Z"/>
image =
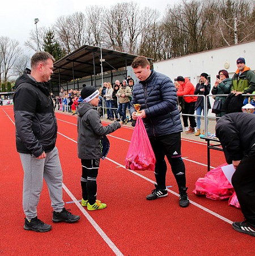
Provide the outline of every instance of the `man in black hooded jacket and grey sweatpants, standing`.
<path id="1" fill-rule="evenodd" d="M 24 73 L 15 82 L 16 148 L 24 170 L 24 229 L 36 232 L 52 228 L 37 218 L 43 179 L 54 210 L 52 220 L 73 223 L 80 219 L 64 208 L 62 199 L 62 169 L 55 146 L 57 121 L 47 87 L 53 61 L 49 53 L 36 52 L 31 58 L 31 74 Z"/>

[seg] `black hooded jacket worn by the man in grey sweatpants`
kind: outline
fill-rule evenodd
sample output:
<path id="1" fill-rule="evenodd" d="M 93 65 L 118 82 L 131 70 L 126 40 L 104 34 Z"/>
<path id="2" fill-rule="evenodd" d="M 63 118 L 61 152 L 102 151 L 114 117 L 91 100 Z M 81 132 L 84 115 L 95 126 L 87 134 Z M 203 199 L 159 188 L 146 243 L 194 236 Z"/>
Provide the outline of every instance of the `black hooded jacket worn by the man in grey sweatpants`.
<path id="1" fill-rule="evenodd" d="M 57 121 L 47 83 L 23 74 L 15 82 L 16 149 L 39 157 L 56 145 Z"/>

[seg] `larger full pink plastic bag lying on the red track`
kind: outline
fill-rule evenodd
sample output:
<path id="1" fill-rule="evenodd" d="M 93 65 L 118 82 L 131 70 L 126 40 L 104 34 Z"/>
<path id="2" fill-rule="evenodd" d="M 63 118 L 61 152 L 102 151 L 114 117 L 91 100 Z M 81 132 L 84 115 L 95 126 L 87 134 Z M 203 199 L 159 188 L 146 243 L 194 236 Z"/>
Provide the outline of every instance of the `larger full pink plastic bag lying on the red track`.
<path id="1" fill-rule="evenodd" d="M 235 191 L 222 171 L 221 167 L 225 165 L 227 165 L 227 163 L 210 170 L 205 175 L 205 178 L 198 178 L 193 193 L 196 195 L 205 195 L 206 198 L 213 200 L 230 198 Z"/>

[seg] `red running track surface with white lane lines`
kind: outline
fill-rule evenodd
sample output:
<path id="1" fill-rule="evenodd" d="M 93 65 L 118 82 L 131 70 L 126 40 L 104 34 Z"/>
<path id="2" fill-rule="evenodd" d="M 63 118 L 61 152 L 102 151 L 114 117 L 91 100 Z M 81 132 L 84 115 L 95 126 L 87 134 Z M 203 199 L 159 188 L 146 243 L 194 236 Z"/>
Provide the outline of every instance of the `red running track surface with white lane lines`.
<path id="1" fill-rule="evenodd" d="M 192 193 L 204 177 L 206 144 L 182 140 L 190 206 L 179 207 L 177 185 L 168 165 L 169 194 L 154 201 L 146 195 L 154 188 L 154 174 L 125 169 L 125 156 L 133 132 L 122 127 L 109 135 L 111 149 L 100 162 L 97 198 L 107 203 L 101 211 L 81 207 L 80 160 L 76 153 L 76 117 L 56 114 L 57 147 L 63 169 L 66 208 L 81 216 L 78 223 L 52 223 L 46 184 L 38 216 L 52 230 L 36 233 L 23 229 L 23 170 L 15 148 L 12 106 L 0 108 L 0 255 L 253 255 L 254 238 L 232 229 L 243 220 L 240 209 L 227 201 L 214 201 Z M 222 152 L 212 150 L 211 164 L 224 162 Z"/>

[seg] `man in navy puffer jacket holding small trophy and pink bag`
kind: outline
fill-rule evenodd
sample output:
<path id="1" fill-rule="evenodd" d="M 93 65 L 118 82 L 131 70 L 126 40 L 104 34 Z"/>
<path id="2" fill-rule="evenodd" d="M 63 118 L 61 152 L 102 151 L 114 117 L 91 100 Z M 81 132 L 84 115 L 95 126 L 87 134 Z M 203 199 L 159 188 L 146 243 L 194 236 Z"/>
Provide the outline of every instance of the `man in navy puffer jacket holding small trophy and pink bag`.
<path id="1" fill-rule="evenodd" d="M 131 64 L 136 77 L 140 80 L 133 87 L 131 114 L 137 119 L 133 104 L 141 104 L 141 118 L 145 124 L 152 149 L 156 157 L 155 189 L 148 200 L 167 196 L 165 176 L 167 163 L 171 165 L 173 175 L 179 187 L 180 206 L 189 205 L 186 194 L 185 165 L 181 158 L 182 125 L 177 107 L 177 94 L 173 82 L 166 75 L 152 71 L 146 57 L 136 57 Z"/>

